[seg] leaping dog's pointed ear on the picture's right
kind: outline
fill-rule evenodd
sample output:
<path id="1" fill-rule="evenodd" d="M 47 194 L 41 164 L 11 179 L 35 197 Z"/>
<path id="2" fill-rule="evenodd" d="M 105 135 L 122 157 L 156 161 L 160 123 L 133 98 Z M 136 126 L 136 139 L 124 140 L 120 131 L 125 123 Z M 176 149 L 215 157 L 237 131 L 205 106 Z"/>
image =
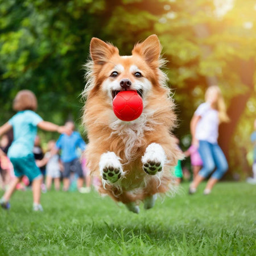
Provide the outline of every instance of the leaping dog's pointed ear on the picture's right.
<path id="1" fill-rule="evenodd" d="M 161 46 L 158 40 L 158 36 L 148 36 L 144 42 L 134 46 L 132 53 L 141 55 L 148 64 L 158 63 L 161 53 Z"/>

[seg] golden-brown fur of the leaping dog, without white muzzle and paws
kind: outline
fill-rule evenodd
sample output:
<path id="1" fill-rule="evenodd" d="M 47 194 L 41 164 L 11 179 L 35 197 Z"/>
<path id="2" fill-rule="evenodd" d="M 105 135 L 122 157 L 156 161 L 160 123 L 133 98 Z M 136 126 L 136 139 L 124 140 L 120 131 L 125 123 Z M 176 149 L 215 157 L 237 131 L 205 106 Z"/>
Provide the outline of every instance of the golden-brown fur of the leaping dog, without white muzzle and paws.
<path id="1" fill-rule="evenodd" d="M 117 48 L 99 39 L 92 39 L 90 52 L 92 61 L 86 65 L 88 84 L 84 108 L 84 125 L 89 139 L 86 149 L 88 167 L 92 176 L 100 177 L 101 155 L 111 151 L 121 158 L 125 171 L 125 177 L 118 185 L 101 185 L 99 191 L 125 204 L 144 200 L 155 193 L 167 192 L 172 186 L 170 169 L 181 158 L 181 152 L 171 135 L 176 122 L 174 102 L 170 97 L 170 89 L 165 85 L 166 76 L 160 71 L 163 61 L 160 59 L 158 38 L 152 35 L 137 44 L 131 57 L 119 56 Z M 129 68 L 137 65 L 143 77 L 152 85 L 143 98 L 141 117 L 132 122 L 118 121 L 113 113 L 112 102 L 102 89 L 104 81 L 109 81 L 110 71 L 118 64 L 125 68 L 119 79 L 129 78 L 135 82 Z M 167 163 L 160 177 L 148 175 L 142 169 L 141 158 L 151 143 L 160 144 L 166 153 Z"/>

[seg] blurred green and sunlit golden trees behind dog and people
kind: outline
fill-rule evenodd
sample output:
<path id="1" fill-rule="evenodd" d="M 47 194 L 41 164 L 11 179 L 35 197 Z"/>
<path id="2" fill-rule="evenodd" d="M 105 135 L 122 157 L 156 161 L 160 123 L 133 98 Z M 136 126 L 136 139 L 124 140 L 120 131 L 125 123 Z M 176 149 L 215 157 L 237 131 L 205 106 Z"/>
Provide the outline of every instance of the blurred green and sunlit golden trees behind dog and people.
<path id="1" fill-rule="evenodd" d="M 159 36 L 168 60 L 164 71 L 177 105 L 181 148 L 190 144 L 189 122 L 205 89 L 217 84 L 231 119 L 220 127 L 229 161 L 225 179 L 249 176 L 256 118 L 254 0 L 0 0 L 1 125 L 14 114 L 12 101 L 21 89 L 36 94 L 46 121 L 80 125 L 90 39 L 112 42 L 130 55 L 134 43 L 151 34 Z M 41 135 L 45 141 L 55 136 Z M 190 168 L 189 161 L 183 166 Z"/>

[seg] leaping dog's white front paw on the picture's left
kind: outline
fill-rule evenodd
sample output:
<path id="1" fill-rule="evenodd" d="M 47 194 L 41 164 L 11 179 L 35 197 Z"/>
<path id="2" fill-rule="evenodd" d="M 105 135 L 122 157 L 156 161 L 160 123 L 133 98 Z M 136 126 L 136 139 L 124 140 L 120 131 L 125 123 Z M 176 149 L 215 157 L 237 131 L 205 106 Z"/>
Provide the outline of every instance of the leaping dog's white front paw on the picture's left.
<path id="1" fill-rule="evenodd" d="M 101 155 L 100 172 L 102 179 L 115 183 L 123 176 L 122 165 L 114 152 L 107 152 Z"/>

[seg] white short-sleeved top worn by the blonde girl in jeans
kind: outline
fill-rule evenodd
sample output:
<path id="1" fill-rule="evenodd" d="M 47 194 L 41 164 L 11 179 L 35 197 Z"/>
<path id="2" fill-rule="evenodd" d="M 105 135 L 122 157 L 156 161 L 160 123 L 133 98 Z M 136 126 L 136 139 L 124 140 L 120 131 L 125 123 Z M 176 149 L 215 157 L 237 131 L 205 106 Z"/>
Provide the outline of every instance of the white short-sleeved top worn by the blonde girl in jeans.
<path id="1" fill-rule="evenodd" d="M 217 143 L 218 139 L 218 111 L 210 108 L 210 104 L 205 102 L 197 108 L 195 115 L 200 115 L 196 126 L 195 137 L 199 141 Z"/>

